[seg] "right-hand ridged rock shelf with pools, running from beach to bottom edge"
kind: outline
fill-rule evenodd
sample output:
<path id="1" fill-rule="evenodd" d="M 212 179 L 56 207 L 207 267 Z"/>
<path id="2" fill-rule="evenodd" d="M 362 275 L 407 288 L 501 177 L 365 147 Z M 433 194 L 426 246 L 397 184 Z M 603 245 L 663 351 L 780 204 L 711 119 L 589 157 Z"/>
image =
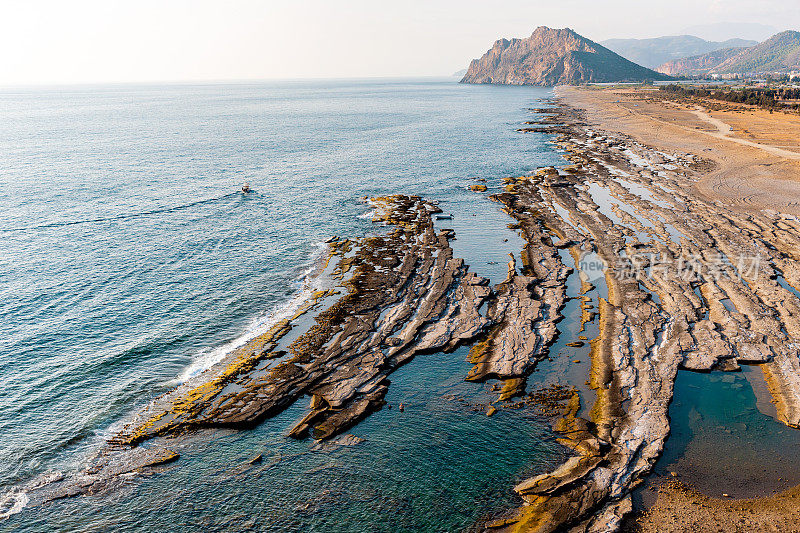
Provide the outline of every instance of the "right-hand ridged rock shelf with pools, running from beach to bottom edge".
<path id="1" fill-rule="evenodd" d="M 523 225 L 572 243 L 585 278 L 602 272 L 608 296 L 591 344 L 597 399 L 590 419 L 559 424 L 576 456 L 519 484 L 526 506 L 489 528 L 615 531 L 669 434 L 679 370 L 758 364 L 780 421 L 800 426 L 800 224 L 694 194 L 703 168 L 695 156 L 594 131 L 568 107 L 544 122 L 557 120 L 570 125 L 557 144 L 572 164 L 509 180 L 495 199 Z"/>

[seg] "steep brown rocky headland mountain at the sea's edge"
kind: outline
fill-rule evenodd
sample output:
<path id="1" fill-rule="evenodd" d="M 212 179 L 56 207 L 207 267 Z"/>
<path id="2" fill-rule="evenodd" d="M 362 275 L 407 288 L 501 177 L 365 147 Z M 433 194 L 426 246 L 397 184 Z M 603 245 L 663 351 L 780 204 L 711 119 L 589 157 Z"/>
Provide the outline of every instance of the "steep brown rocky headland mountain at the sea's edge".
<path id="1" fill-rule="evenodd" d="M 545 26 L 527 39 L 500 39 L 474 59 L 462 83 L 506 85 L 584 84 L 667 79 L 569 28 Z"/>

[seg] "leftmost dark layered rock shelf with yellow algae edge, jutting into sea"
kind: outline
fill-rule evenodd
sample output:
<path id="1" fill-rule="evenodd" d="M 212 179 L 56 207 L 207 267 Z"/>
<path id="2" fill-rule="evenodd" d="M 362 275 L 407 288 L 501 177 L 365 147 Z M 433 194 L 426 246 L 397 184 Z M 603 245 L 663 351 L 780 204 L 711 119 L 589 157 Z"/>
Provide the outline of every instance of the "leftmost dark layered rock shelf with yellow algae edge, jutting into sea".
<path id="1" fill-rule="evenodd" d="M 436 232 L 434 204 L 402 195 L 371 204 L 375 221 L 390 230 L 331 242 L 329 270 L 341 289 L 318 291 L 293 318 L 152 402 L 89 470 L 50 487 L 42 500 L 102 490 L 121 474 L 177 459 L 163 447 L 165 437 L 252 427 L 303 396 L 311 398 L 309 411 L 289 436 L 335 440 L 384 405 L 388 376 L 416 354 L 450 352 L 494 324 L 480 312 L 493 295 L 488 280 L 453 256 L 452 230 Z M 312 311 L 313 323 L 286 346 L 298 319 Z"/>

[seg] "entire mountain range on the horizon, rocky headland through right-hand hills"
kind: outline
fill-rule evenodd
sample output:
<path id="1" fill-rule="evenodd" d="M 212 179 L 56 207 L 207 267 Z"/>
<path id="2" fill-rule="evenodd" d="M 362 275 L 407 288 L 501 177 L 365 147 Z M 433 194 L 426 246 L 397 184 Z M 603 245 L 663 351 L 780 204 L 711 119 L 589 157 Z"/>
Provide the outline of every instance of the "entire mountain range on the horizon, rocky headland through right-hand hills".
<path id="1" fill-rule="evenodd" d="M 569 28 L 541 26 L 526 39 L 495 42 L 470 63 L 461 81 L 552 86 L 800 72 L 797 31 L 784 31 L 761 43 L 744 39 L 706 41 L 691 35 L 603 43 L 607 46 Z M 657 64 L 654 70 L 648 68 Z"/>

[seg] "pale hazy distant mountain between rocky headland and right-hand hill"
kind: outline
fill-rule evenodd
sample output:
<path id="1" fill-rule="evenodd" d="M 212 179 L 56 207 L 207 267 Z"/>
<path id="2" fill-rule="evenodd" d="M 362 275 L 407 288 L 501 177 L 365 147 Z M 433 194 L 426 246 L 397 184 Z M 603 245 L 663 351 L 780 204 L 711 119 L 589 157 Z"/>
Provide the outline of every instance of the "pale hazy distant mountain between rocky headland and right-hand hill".
<path id="1" fill-rule="evenodd" d="M 600 44 L 647 68 L 656 68 L 673 59 L 699 56 L 725 48 L 746 48 L 758 41 L 729 39 L 727 41 L 706 41 L 692 35 L 674 35 L 655 39 L 609 39 Z"/>

